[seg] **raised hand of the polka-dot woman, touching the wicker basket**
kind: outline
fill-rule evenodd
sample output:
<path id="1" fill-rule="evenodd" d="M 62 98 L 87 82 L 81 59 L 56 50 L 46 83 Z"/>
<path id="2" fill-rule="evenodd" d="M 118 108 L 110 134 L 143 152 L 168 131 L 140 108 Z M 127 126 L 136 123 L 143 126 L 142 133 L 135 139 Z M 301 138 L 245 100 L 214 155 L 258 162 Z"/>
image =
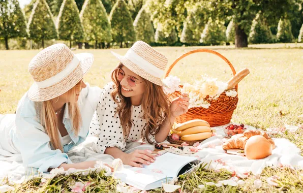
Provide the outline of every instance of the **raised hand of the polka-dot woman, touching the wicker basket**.
<path id="1" fill-rule="evenodd" d="M 189 98 L 188 94 L 184 93 L 180 97 L 174 99 L 170 105 L 171 116 L 178 117 L 188 111 Z"/>

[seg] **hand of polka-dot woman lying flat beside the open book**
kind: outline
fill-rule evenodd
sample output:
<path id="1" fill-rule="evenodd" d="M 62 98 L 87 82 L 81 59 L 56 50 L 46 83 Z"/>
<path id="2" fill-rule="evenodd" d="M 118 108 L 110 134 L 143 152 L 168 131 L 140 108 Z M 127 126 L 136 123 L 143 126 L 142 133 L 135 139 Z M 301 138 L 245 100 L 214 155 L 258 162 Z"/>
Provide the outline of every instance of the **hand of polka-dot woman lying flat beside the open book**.
<path id="1" fill-rule="evenodd" d="M 155 162 L 156 157 L 145 150 L 135 150 L 132 153 L 125 154 L 123 164 L 142 168 L 142 164 L 150 165 Z"/>

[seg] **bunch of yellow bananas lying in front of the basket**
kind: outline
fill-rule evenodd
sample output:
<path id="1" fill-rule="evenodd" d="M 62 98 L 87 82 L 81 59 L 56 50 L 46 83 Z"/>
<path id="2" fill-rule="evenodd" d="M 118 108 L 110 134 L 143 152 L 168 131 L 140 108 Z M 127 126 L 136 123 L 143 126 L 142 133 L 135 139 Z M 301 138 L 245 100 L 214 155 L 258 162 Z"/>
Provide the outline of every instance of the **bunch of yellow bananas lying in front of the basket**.
<path id="1" fill-rule="evenodd" d="M 183 141 L 204 140 L 212 135 L 209 123 L 201 119 L 194 119 L 181 124 L 174 123 L 171 134 L 177 134 Z"/>

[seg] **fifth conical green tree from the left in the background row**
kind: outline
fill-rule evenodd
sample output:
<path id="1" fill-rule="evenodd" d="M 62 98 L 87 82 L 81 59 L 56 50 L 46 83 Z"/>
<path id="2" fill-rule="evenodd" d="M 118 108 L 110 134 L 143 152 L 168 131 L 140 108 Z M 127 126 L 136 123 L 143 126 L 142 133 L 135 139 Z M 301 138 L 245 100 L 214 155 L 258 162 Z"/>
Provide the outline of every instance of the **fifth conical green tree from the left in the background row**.
<path id="1" fill-rule="evenodd" d="M 123 47 L 123 42 L 128 45 L 128 42 L 136 41 L 134 22 L 124 0 L 117 0 L 110 12 L 109 18 L 113 41 L 120 43 L 121 48 Z"/>

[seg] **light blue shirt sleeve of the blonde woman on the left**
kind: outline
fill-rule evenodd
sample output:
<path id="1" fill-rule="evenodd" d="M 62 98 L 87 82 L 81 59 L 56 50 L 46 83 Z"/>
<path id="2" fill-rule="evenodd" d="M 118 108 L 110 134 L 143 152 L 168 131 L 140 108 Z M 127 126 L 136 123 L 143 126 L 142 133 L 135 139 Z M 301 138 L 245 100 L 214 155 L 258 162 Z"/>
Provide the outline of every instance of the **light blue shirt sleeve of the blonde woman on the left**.
<path id="1" fill-rule="evenodd" d="M 50 138 L 37 117 L 20 117 L 18 113 L 16 116 L 14 144 L 20 150 L 23 166 L 47 172 L 49 168 L 57 168 L 63 163 L 72 164 L 66 153 L 51 149 Z"/>

